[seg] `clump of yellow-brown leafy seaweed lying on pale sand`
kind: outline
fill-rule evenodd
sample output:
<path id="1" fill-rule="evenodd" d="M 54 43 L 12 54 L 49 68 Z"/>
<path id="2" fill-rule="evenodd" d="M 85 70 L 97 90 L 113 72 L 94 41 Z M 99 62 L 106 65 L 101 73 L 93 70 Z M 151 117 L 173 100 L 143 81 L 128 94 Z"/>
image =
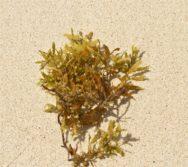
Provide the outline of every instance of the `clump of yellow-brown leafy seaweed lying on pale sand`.
<path id="1" fill-rule="evenodd" d="M 147 79 L 149 67 L 141 66 L 143 52 L 134 46 L 131 53 L 111 51 L 93 39 L 92 32 L 83 35 L 72 30 L 65 36 L 68 44 L 57 49 L 53 43 L 47 52 L 40 51 L 43 59 L 37 63 L 41 87 L 56 98 L 56 104 L 47 104 L 45 111 L 57 114 L 68 160 L 75 167 L 87 167 L 97 159 L 124 156 L 123 145 L 136 139 L 124 134 L 119 122 L 126 111 L 120 114 L 119 107 L 129 106 L 133 95 L 142 90 L 135 81 Z M 105 120 L 106 131 L 101 129 Z M 91 128 L 95 128 L 93 136 Z M 88 147 L 83 151 L 79 148 L 86 136 Z"/>

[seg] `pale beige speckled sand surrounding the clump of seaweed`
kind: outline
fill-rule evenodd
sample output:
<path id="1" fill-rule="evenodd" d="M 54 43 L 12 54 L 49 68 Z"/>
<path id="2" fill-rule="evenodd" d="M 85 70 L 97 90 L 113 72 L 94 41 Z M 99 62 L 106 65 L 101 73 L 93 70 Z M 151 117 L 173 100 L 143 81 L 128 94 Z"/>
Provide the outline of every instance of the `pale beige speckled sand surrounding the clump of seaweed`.
<path id="1" fill-rule="evenodd" d="M 0 166 L 71 166 L 55 115 L 42 112 L 51 99 L 34 63 L 71 27 L 111 48 L 135 44 L 151 65 L 124 123 L 140 141 L 97 165 L 188 166 L 188 0 L 0 0 Z"/>

